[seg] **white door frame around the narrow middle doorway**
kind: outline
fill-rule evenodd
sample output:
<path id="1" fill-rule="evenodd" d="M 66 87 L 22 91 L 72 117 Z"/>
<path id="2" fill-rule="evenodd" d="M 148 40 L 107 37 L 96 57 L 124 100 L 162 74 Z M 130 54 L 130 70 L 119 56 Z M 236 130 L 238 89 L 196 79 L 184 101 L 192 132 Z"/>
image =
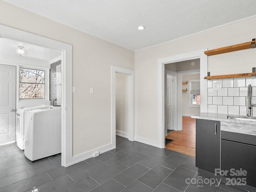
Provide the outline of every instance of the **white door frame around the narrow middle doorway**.
<path id="1" fill-rule="evenodd" d="M 111 66 L 111 143 L 116 146 L 116 73 L 128 75 L 128 140 L 135 140 L 135 71 Z"/>

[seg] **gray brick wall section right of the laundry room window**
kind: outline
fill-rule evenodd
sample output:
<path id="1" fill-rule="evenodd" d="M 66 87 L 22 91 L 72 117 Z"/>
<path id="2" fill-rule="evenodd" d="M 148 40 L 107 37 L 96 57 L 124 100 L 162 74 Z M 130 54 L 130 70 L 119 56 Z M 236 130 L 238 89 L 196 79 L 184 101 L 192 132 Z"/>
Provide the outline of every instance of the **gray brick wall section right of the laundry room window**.
<path id="1" fill-rule="evenodd" d="M 61 64 L 61 60 L 51 64 L 50 68 L 50 103 L 53 105 L 54 99 L 57 98 L 56 95 L 56 66 Z M 54 106 L 56 106 L 56 101 L 54 101 Z"/>

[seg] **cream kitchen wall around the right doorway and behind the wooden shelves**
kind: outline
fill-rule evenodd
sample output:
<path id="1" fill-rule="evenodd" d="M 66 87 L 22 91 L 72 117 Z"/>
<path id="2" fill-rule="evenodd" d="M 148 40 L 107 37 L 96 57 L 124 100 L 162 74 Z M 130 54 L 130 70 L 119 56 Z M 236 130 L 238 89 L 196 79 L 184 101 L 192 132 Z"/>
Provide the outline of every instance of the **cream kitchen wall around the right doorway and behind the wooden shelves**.
<path id="1" fill-rule="evenodd" d="M 256 17 L 235 22 L 135 52 L 136 135 L 158 140 L 157 59 L 208 48 L 208 50 L 249 42 L 255 38 Z M 256 49 L 208 57 L 211 75 L 251 72 Z M 207 74 L 205 74 L 207 76 Z M 150 78 L 148 78 L 150 77 Z"/>

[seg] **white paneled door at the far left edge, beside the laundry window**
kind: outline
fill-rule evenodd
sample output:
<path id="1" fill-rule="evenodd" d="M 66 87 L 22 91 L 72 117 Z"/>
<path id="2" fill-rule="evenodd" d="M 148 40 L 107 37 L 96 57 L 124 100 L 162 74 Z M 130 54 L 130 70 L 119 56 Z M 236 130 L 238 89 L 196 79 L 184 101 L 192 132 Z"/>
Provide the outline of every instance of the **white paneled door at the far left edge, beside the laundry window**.
<path id="1" fill-rule="evenodd" d="M 15 142 L 16 66 L 0 64 L 0 145 Z"/>

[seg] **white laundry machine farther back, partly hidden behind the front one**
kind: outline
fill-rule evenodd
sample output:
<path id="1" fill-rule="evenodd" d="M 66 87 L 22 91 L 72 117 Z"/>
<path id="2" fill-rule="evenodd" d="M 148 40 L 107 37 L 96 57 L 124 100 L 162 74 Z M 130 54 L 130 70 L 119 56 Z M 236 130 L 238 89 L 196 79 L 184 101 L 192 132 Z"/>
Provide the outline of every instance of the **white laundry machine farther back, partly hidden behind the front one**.
<path id="1" fill-rule="evenodd" d="M 48 106 L 40 105 L 40 106 L 34 106 L 34 107 L 21 107 L 17 109 L 16 111 L 16 143 L 21 150 L 24 150 L 25 112 L 27 110 L 45 108 Z"/>

